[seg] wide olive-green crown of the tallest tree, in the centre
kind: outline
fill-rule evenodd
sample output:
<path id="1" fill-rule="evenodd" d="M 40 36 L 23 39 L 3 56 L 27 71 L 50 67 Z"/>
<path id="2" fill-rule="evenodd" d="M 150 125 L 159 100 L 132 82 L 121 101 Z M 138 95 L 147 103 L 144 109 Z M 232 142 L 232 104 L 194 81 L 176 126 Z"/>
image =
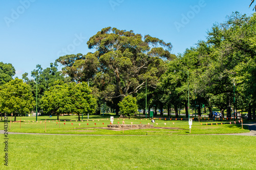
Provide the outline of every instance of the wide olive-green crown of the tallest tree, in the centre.
<path id="1" fill-rule="evenodd" d="M 98 89 L 98 101 L 113 103 L 117 110 L 118 102 L 127 95 L 136 95 L 146 80 L 149 86 L 156 87 L 166 63 L 176 57 L 170 53 L 170 43 L 111 27 L 97 32 L 87 44 L 96 52 L 83 56 L 83 61 L 75 56 L 66 57 L 64 61 L 68 62 L 60 58 L 57 61 L 66 66 L 63 70 L 74 81 L 89 80 Z"/>

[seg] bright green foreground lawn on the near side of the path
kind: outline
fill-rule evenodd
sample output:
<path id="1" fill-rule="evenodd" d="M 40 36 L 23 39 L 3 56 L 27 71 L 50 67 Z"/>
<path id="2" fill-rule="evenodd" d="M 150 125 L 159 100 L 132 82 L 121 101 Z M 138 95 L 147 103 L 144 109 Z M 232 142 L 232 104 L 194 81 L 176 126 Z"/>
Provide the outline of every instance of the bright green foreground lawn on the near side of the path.
<path id="1" fill-rule="evenodd" d="M 10 134 L 1 169 L 255 169 L 256 138 Z M 1 144 L 2 159 L 4 143 Z"/>

